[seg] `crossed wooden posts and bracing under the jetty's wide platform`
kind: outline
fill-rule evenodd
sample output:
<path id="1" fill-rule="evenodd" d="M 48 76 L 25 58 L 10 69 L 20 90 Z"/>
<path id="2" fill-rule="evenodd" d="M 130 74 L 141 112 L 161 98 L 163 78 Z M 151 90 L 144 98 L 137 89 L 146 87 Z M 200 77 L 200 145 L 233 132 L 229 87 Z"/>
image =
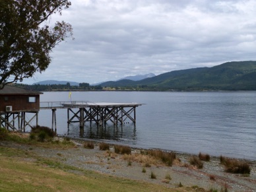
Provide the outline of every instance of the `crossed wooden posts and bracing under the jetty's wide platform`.
<path id="1" fill-rule="evenodd" d="M 67 109 L 67 123 L 79 122 L 83 127 L 84 122 L 94 121 L 98 125 L 111 121 L 114 125 L 125 123 L 127 119 L 133 123 L 136 122 L 136 106 L 90 106 L 90 108 L 79 108 L 77 112 L 74 109 Z M 72 113 L 70 116 L 69 113 Z"/>

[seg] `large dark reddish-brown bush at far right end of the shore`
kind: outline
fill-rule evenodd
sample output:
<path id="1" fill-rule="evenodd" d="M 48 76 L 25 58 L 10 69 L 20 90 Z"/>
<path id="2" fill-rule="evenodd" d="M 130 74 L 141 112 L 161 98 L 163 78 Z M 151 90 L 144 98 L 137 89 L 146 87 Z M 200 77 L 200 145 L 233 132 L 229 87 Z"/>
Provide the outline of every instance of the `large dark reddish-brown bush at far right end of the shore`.
<path id="1" fill-rule="evenodd" d="M 251 168 L 246 162 L 240 162 L 238 160 L 224 158 L 220 156 L 220 163 L 224 164 L 225 171 L 232 174 L 250 174 Z"/>

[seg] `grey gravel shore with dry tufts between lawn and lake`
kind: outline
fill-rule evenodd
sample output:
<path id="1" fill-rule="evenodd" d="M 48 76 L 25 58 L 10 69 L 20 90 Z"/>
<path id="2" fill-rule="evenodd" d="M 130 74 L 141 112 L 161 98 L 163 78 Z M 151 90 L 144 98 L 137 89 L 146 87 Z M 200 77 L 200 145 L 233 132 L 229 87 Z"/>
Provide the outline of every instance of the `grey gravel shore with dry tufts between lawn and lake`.
<path id="1" fill-rule="evenodd" d="M 117 177 L 141 180 L 151 183 L 166 185 L 176 188 L 179 185 L 192 187 L 198 186 L 204 189 L 227 188 L 228 191 L 256 191 L 256 162 L 247 161 L 251 168 L 249 176 L 241 174 L 230 174 L 224 172 L 224 166 L 220 164 L 219 158 L 210 157 L 210 162 L 204 162 L 203 169 L 197 169 L 189 165 L 192 154 L 176 153 L 178 162 L 173 166 L 164 166 L 160 162 L 144 167 L 140 162 L 128 163 L 123 155 L 115 154 L 113 146 L 110 151 L 102 151 L 98 144 L 94 143 L 94 149 L 86 149 L 80 140 L 71 140 L 76 146 L 74 148 L 44 148 L 26 144 L 1 142 L 1 146 L 32 150 L 32 152 L 44 158 L 51 158 L 69 166 L 75 166 L 82 170 L 93 170 L 102 174 L 110 174 Z M 132 154 L 140 153 L 141 149 L 133 148 Z M 146 171 L 143 172 L 142 170 Z M 151 179 L 150 174 L 154 173 L 156 179 Z M 166 179 L 166 176 L 169 178 Z"/>

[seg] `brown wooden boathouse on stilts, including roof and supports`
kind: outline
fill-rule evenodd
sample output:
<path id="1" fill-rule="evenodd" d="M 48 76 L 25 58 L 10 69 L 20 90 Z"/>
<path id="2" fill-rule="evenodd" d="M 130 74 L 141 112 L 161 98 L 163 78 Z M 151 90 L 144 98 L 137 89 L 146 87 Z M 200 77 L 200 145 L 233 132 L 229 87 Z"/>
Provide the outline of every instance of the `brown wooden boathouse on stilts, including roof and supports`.
<path id="1" fill-rule="evenodd" d="M 40 110 L 40 94 L 31 90 L 24 90 L 16 86 L 5 86 L 0 90 L 0 126 L 13 131 L 25 131 L 26 126 L 36 118 Z M 26 113 L 33 113 L 26 119 Z"/>

